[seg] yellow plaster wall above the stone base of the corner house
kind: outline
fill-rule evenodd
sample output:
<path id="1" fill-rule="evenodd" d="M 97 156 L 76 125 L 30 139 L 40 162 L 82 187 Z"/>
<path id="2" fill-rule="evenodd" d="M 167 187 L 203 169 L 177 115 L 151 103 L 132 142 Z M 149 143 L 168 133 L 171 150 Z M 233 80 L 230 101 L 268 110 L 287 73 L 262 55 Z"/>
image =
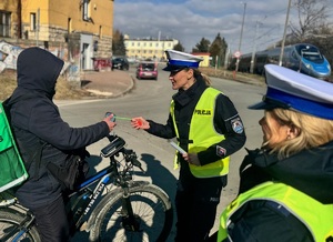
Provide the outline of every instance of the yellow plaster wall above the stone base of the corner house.
<path id="1" fill-rule="evenodd" d="M 30 29 L 30 16 L 38 12 L 40 40 L 54 41 L 71 32 L 112 38 L 113 1 L 111 0 L 91 0 L 88 6 L 89 20 L 87 21 L 83 20 L 83 0 L 24 0 L 22 2 L 23 31 L 28 31 L 29 39 L 36 39 L 38 33 Z"/>

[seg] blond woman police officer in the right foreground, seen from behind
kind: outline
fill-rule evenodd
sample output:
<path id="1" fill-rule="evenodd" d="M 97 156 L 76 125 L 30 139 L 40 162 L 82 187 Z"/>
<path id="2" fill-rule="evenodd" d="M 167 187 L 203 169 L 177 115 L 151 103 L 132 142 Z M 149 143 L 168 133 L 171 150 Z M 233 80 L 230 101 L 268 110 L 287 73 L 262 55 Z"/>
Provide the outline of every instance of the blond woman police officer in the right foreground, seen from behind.
<path id="1" fill-rule="evenodd" d="M 218 241 L 333 241 L 333 84 L 265 65 L 261 149 L 249 151 L 240 193 Z"/>

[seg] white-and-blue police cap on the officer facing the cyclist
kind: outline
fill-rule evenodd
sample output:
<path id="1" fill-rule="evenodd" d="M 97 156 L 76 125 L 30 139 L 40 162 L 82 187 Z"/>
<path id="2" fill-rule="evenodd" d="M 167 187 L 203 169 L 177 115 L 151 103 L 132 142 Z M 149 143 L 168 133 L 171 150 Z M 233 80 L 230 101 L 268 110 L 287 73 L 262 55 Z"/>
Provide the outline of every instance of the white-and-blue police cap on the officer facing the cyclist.
<path id="1" fill-rule="evenodd" d="M 196 69 L 200 61 L 203 60 L 200 57 L 176 50 L 165 50 L 165 54 L 168 58 L 168 65 L 163 69 L 164 71 L 175 71 L 184 68 Z"/>

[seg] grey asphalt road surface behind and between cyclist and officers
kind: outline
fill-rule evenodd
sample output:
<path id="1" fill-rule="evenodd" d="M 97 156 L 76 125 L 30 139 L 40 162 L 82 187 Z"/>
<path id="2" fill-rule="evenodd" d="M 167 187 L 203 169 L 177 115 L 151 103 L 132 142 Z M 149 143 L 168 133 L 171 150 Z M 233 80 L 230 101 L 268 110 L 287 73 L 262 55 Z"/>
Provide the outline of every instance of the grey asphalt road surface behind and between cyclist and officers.
<path id="1" fill-rule="evenodd" d="M 129 73 L 133 73 L 131 68 Z M 265 88 L 246 83 L 212 78 L 213 87 L 223 91 L 234 102 L 239 110 L 248 134 L 245 147 L 254 149 L 262 142 L 262 132 L 258 124 L 262 117 L 262 111 L 248 110 L 249 104 L 262 99 Z M 112 111 L 119 117 L 139 117 L 152 119 L 157 122 L 165 123 L 169 114 L 171 95 L 175 91 L 171 89 L 170 81 L 165 72 L 160 71 L 158 81 L 140 80 L 135 81 L 135 88 L 128 94 L 117 99 L 65 101 L 59 103 L 62 118 L 72 127 L 84 127 L 100 121 L 107 111 Z M 173 170 L 174 149 L 163 139 L 152 137 L 145 131 L 137 131 L 130 127 L 129 121 L 119 120 L 115 133 L 127 141 L 130 149 L 137 151 L 143 163 L 147 173 L 137 180 L 149 180 L 161 186 L 173 201 L 178 171 Z M 100 150 L 108 144 L 107 140 L 101 140 L 88 148 L 93 158 L 99 157 Z M 219 216 L 223 208 L 235 198 L 238 192 L 239 165 L 245 155 L 242 149 L 231 157 L 230 174 L 228 186 L 223 189 L 221 203 L 219 205 L 214 232 L 219 226 Z M 92 172 L 102 169 L 108 161 L 94 159 L 99 162 L 92 163 Z M 174 229 L 170 234 L 173 241 Z M 79 232 L 73 241 L 87 241 L 87 233 Z"/>

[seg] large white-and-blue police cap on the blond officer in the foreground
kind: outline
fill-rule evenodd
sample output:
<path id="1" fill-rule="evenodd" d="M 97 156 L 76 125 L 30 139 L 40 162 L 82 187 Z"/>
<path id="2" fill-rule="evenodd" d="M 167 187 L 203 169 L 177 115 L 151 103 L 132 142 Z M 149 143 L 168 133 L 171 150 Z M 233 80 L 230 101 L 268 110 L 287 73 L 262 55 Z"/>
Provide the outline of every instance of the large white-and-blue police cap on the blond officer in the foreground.
<path id="1" fill-rule="evenodd" d="M 291 109 L 333 120 L 333 84 L 276 64 L 265 65 L 268 90 L 249 109 Z"/>

